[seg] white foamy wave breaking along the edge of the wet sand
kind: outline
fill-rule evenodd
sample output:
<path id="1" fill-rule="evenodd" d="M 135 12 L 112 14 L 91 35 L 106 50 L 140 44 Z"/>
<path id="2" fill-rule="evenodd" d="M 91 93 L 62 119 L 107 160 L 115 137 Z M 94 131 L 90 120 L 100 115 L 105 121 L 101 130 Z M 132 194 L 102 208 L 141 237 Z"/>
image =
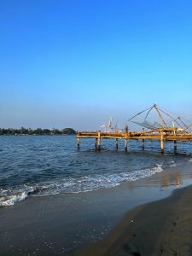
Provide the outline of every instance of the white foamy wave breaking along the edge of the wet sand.
<path id="1" fill-rule="evenodd" d="M 38 183 L 33 186 L 24 185 L 20 189 L 0 190 L 0 207 L 13 206 L 19 201 L 24 201 L 28 196 L 46 196 L 60 193 L 79 193 L 98 189 L 109 189 L 120 183 L 136 181 L 143 177 L 150 177 L 162 172 L 161 165 L 151 169 L 137 170 L 133 172 L 117 172 L 113 174 L 95 174 L 84 177 L 68 177 L 57 179 L 49 183 Z"/>

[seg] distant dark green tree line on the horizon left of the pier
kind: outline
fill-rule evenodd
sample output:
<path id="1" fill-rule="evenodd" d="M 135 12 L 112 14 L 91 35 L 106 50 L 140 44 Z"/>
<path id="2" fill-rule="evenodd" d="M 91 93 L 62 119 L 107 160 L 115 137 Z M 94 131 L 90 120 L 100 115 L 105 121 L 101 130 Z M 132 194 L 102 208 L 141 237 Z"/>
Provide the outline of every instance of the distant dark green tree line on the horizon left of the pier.
<path id="1" fill-rule="evenodd" d="M 0 128 L 0 135 L 71 135 L 76 134 L 72 128 L 65 128 L 65 129 L 32 129 L 32 128 L 25 128 L 21 127 L 20 129 L 13 129 L 13 128 Z"/>

